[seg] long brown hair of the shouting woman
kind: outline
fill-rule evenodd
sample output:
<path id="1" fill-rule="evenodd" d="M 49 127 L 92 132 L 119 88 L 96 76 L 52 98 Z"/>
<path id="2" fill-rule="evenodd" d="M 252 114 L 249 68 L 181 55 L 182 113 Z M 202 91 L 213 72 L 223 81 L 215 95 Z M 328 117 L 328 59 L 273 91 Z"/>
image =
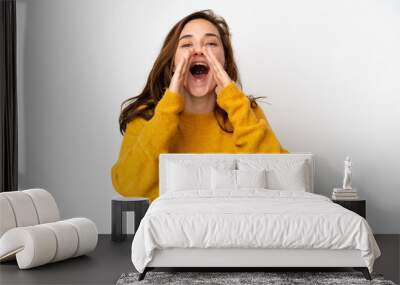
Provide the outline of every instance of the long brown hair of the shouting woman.
<path id="1" fill-rule="evenodd" d="M 175 51 L 178 47 L 178 39 L 181 34 L 183 27 L 191 20 L 194 19 L 205 19 L 211 22 L 217 29 L 221 36 L 222 44 L 225 53 L 225 70 L 229 77 L 242 87 L 239 71 L 236 66 L 236 62 L 233 57 L 233 50 L 231 45 L 231 34 L 229 31 L 228 24 L 225 20 L 214 14 L 212 10 L 202 10 L 194 12 L 178 23 L 169 31 L 167 37 L 164 40 L 160 54 L 154 62 L 153 68 L 147 78 L 146 86 L 143 91 L 132 98 L 129 98 L 121 104 L 121 114 L 119 116 L 119 128 L 123 135 L 127 124 L 132 121 L 135 117 L 142 117 L 147 121 L 150 120 L 154 115 L 154 109 L 158 102 L 161 100 L 165 90 L 168 88 L 171 78 L 173 75 L 173 59 Z M 264 97 L 264 96 L 261 96 Z M 250 106 L 255 108 L 257 106 L 256 99 L 253 96 L 248 96 L 250 100 Z M 125 107 L 124 107 L 125 105 Z M 226 132 L 232 133 L 232 125 L 229 123 L 227 112 L 215 104 L 214 114 L 216 118 L 222 118 L 222 123 L 218 121 L 219 126 Z M 219 115 L 219 116 L 218 116 Z M 226 126 L 230 126 L 227 129 Z"/>

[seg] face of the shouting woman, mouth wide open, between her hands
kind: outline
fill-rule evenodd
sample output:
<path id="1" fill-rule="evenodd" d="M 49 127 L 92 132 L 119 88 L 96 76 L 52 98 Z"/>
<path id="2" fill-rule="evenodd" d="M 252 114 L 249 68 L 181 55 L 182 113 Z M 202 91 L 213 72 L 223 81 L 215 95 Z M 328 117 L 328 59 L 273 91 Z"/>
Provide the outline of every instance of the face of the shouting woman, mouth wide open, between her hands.
<path id="1" fill-rule="evenodd" d="M 178 65 L 186 53 L 190 53 L 189 70 L 184 87 L 191 95 L 196 97 L 212 93 L 216 86 L 210 65 L 203 54 L 203 48 L 207 46 L 210 47 L 209 51 L 214 53 L 221 65 L 224 66 L 224 47 L 218 29 L 204 19 L 195 19 L 186 23 L 179 35 L 174 66 Z"/>

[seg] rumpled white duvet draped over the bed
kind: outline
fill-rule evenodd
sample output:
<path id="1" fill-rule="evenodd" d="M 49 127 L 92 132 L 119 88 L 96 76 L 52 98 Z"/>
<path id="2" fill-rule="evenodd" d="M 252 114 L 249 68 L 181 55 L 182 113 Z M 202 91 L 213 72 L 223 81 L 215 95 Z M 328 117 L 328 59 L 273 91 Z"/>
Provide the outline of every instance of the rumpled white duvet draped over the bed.
<path id="1" fill-rule="evenodd" d="M 143 272 L 154 249 L 358 249 L 372 272 L 380 250 L 367 221 L 325 196 L 299 191 L 179 191 L 151 203 L 132 242 Z"/>

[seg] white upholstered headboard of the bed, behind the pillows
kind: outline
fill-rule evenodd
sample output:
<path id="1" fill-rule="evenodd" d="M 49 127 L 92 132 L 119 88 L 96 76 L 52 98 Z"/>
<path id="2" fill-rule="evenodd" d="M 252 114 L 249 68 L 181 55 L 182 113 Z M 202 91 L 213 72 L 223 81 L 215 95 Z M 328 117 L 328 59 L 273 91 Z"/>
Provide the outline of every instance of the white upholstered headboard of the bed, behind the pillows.
<path id="1" fill-rule="evenodd" d="M 307 189 L 308 192 L 314 192 L 314 173 L 315 173 L 315 162 L 313 158 L 313 154 L 309 152 L 301 152 L 301 153 L 282 153 L 282 154 L 274 154 L 274 153 L 161 153 L 159 156 L 159 190 L 160 195 L 165 193 L 166 191 L 166 168 L 168 161 L 175 160 L 191 160 L 198 163 L 207 163 L 212 160 L 304 160 L 308 166 L 308 181 L 310 185 L 310 189 Z"/>

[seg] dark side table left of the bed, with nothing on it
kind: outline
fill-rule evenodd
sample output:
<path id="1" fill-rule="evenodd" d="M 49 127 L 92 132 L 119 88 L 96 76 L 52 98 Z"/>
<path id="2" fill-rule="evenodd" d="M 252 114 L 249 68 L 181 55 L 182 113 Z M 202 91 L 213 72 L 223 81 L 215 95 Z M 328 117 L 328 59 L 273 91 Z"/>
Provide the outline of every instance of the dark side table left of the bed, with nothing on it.
<path id="1" fill-rule="evenodd" d="M 126 239 L 126 212 L 135 213 L 135 233 L 149 208 L 150 200 L 144 197 L 115 197 L 111 200 L 111 240 Z"/>

